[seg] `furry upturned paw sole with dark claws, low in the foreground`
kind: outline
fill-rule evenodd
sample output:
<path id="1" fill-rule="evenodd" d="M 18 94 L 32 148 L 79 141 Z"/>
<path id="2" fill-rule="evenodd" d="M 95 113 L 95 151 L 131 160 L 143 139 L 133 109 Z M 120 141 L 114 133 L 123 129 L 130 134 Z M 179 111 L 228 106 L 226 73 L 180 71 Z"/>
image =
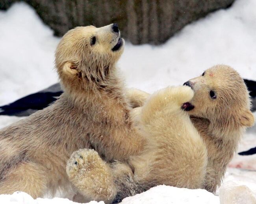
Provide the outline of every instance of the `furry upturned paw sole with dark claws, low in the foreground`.
<path id="1" fill-rule="evenodd" d="M 110 202 L 115 197 L 111 169 L 93 149 L 75 151 L 67 162 L 70 182 L 88 200 Z"/>

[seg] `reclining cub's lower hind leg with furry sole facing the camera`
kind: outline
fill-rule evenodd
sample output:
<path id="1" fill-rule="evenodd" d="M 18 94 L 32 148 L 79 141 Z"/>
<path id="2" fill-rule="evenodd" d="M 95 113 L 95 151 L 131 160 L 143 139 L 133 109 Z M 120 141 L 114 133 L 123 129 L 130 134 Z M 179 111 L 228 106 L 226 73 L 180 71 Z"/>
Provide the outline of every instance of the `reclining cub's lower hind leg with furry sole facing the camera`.
<path id="1" fill-rule="evenodd" d="M 67 175 L 78 190 L 74 201 L 103 200 L 107 204 L 142 192 L 130 166 L 121 162 L 109 165 L 92 149 L 80 149 L 72 154 L 67 162 Z"/>

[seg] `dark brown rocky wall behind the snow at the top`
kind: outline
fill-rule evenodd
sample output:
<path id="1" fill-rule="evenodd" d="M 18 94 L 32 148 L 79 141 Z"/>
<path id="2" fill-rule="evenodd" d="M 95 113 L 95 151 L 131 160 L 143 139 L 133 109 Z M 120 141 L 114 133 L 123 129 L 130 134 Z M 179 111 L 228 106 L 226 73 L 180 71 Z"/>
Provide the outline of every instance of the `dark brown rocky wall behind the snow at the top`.
<path id="1" fill-rule="evenodd" d="M 0 0 L 8 9 L 20 0 Z M 118 23 L 132 44 L 161 44 L 190 22 L 234 0 L 23 0 L 32 5 L 56 36 L 76 26 Z"/>

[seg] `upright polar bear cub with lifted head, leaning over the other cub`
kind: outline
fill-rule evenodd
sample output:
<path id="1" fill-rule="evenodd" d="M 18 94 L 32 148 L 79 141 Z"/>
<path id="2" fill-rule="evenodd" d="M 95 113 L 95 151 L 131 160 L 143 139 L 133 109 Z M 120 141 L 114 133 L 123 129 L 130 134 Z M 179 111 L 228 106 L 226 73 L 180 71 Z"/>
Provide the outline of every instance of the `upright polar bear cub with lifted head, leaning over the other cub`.
<path id="1" fill-rule="evenodd" d="M 141 106 L 145 97 L 143 92 L 141 99 L 129 97 L 138 90 L 125 94 L 116 68 L 124 44 L 119 37 L 112 25 L 76 27 L 63 36 L 56 69 L 64 93 L 51 106 L 0 131 L 0 194 L 25 191 L 35 198 L 70 186 L 66 162 L 81 148 L 95 149 L 106 161 L 143 150 L 130 101 Z"/>

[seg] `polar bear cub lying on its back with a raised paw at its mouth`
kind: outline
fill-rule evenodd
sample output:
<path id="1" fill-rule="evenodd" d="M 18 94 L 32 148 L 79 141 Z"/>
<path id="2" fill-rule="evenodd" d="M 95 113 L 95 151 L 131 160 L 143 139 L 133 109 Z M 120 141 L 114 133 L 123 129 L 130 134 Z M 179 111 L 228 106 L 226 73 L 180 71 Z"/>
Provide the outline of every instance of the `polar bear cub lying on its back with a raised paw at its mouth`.
<path id="1" fill-rule="evenodd" d="M 112 163 L 111 172 L 108 164 L 96 160 L 92 167 L 95 168 L 94 178 L 98 179 L 100 173 L 96 169 L 101 164 L 104 171 L 113 175 L 113 181 L 109 185 L 91 186 L 87 181 L 80 182 L 80 193 L 91 192 L 90 195 L 97 198 L 98 193 L 93 193 L 92 189 L 111 189 L 117 201 L 158 184 L 215 192 L 245 128 L 254 123 L 249 93 L 239 74 L 224 65 L 211 67 L 203 76 L 189 82 L 194 90 L 193 98 L 189 88 L 174 92 L 167 88 L 152 95 L 142 108 L 134 109 L 134 124 L 148 135 L 146 148 L 141 155 L 130 157 L 126 164 Z M 210 91 L 214 91 L 216 98 L 210 96 Z M 195 108 L 184 113 L 180 106 L 187 101 Z M 69 169 L 74 168 L 74 161 L 70 159 L 67 166 L 70 178 L 76 174 Z M 81 177 L 89 173 L 83 165 L 80 168 L 84 169 Z M 78 184 L 78 180 L 70 180 L 75 186 Z M 101 194 L 100 199 L 109 202 L 113 197 L 113 194 Z"/>

